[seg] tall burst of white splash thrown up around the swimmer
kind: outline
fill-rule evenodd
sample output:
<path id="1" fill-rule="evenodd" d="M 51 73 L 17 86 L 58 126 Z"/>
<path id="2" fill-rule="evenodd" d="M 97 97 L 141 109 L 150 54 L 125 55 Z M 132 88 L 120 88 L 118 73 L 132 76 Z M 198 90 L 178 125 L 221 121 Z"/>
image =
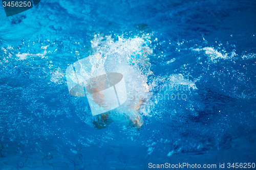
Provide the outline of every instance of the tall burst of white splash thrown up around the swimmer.
<path id="1" fill-rule="evenodd" d="M 101 56 L 104 59 L 106 72 L 119 72 L 123 75 L 127 101 L 118 110 L 120 113 L 136 118 L 135 112 L 148 115 L 151 106 L 150 87 L 147 85 L 147 76 L 152 74 L 148 55 L 153 53 L 150 47 L 150 35 L 143 37 L 124 38 L 118 36 L 114 40 L 111 36 L 95 35 L 91 41 L 91 55 Z M 146 95 L 145 95 L 146 94 Z M 141 96 L 144 99 L 141 99 Z M 143 101 L 143 102 L 142 102 Z M 145 105 L 141 103 L 146 103 Z M 141 105 L 140 105 L 141 104 Z M 143 106 L 142 106 L 143 105 Z M 135 117 L 134 117 L 135 116 Z"/>

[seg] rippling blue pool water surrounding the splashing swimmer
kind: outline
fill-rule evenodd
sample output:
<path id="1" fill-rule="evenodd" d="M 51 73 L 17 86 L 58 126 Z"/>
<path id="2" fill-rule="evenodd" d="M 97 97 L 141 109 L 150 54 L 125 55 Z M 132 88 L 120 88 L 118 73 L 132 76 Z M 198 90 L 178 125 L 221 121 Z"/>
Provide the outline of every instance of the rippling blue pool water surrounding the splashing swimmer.
<path id="1" fill-rule="evenodd" d="M 239 0 L 42 0 L 6 17 L 1 6 L 0 169 L 256 163 L 255 9 Z M 130 126 L 119 108 L 96 129 L 65 71 L 99 49 L 126 56 L 122 47 L 150 89 L 144 123 Z"/>

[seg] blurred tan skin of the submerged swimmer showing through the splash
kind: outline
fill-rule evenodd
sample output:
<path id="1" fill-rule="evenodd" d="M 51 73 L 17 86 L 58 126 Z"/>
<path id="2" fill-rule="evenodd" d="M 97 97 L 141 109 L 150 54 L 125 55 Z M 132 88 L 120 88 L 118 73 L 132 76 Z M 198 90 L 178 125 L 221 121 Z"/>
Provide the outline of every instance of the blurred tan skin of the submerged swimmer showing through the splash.
<path id="1" fill-rule="evenodd" d="M 100 58 L 99 55 L 92 55 L 92 57 Z M 96 64 L 97 65 L 97 64 Z M 95 71 L 95 70 L 93 70 Z M 94 73 L 91 72 L 91 75 L 94 75 Z M 138 75 L 136 74 L 136 78 Z M 132 81 L 136 81 L 136 78 L 132 78 Z M 108 94 L 105 94 L 102 92 L 101 89 L 104 89 L 105 83 L 102 79 L 93 78 L 90 80 L 90 83 L 87 84 L 87 87 L 90 87 L 91 92 L 90 97 L 94 103 L 96 103 L 98 106 L 102 108 L 108 108 L 111 106 L 111 103 L 108 103 L 109 96 L 106 96 Z M 122 107 L 122 110 L 119 109 L 118 112 L 124 113 L 125 119 L 129 120 L 130 125 L 132 127 L 140 128 L 143 125 L 142 117 L 139 114 L 139 110 L 141 109 L 142 105 L 145 103 L 145 99 L 142 98 L 143 95 L 145 95 L 146 92 L 148 92 L 148 85 L 143 82 L 135 82 L 135 84 L 139 84 L 139 86 L 143 87 L 143 91 L 139 90 L 137 91 L 136 88 L 131 91 L 129 91 L 129 100 L 127 100 L 124 103 L 124 106 Z M 93 89 L 93 90 L 92 90 Z M 140 88 L 141 89 L 141 88 Z M 87 90 L 88 91 L 88 90 Z M 125 91 L 126 92 L 126 91 Z M 113 99 L 114 100 L 114 99 Z M 101 113 L 94 118 L 94 126 L 97 129 L 105 128 L 108 124 L 112 122 L 111 120 L 111 111 Z"/>

